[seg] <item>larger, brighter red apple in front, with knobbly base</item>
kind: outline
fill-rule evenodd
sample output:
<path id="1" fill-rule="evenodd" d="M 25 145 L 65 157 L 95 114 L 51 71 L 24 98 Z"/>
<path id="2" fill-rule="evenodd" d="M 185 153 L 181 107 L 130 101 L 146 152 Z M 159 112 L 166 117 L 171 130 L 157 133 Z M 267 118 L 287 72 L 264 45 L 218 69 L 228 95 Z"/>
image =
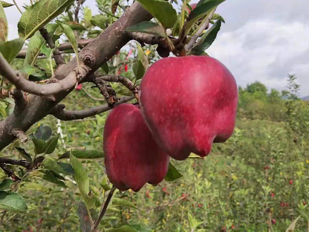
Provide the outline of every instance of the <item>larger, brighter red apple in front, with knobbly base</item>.
<path id="1" fill-rule="evenodd" d="M 167 57 L 141 82 L 141 110 L 157 144 L 171 157 L 205 157 L 233 133 L 238 88 L 231 72 L 209 56 Z"/>

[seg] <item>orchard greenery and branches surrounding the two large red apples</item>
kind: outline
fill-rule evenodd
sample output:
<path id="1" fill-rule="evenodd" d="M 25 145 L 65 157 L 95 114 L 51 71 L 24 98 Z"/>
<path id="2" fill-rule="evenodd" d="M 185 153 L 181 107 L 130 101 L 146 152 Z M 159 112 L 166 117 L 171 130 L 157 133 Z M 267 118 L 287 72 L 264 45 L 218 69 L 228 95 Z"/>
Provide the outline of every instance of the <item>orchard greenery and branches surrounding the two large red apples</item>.
<path id="1" fill-rule="evenodd" d="M 308 229 L 309 105 L 294 75 L 281 93 L 239 88 L 234 134 L 205 160 L 171 159 L 138 193 L 107 178 L 106 111 L 136 102 L 161 57 L 207 55 L 224 0 L 15 2 L 0 3 L 1 231 Z M 6 7 L 22 13 L 10 41 Z"/>

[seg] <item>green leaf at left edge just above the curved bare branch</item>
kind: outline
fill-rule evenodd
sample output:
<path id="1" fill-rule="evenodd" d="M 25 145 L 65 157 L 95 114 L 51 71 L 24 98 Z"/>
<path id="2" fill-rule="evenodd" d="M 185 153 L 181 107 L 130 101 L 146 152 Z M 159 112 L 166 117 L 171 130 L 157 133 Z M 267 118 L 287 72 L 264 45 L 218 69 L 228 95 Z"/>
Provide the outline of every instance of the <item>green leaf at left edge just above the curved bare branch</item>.
<path id="1" fill-rule="evenodd" d="M 17 56 L 19 51 L 23 48 L 23 39 L 15 39 L 6 42 L 0 42 L 0 52 L 7 62 L 11 63 Z"/>

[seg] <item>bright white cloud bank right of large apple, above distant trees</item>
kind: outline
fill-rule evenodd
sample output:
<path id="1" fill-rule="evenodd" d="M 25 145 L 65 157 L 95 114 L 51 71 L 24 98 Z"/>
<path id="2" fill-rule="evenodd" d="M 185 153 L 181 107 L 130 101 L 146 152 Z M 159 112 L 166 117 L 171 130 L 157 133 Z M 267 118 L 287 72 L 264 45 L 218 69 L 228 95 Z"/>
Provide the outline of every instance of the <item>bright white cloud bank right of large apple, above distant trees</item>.
<path id="1" fill-rule="evenodd" d="M 219 32 L 207 52 L 224 63 L 241 86 L 259 80 L 282 90 L 287 74 L 295 73 L 301 95 L 308 95 L 308 37 L 308 24 L 256 19 L 235 31 Z"/>

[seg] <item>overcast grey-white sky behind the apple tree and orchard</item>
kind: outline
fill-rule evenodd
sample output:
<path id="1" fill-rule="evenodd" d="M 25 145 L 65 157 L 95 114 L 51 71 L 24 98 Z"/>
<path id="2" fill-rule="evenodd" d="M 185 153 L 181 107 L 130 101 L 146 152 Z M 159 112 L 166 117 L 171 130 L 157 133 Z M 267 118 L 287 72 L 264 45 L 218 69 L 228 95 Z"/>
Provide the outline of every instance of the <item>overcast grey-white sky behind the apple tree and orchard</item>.
<path id="1" fill-rule="evenodd" d="M 17 2 L 22 6 L 29 0 Z M 86 5 L 96 13 L 94 0 L 87 0 Z M 296 74 L 301 84 L 300 96 L 307 96 L 308 9 L 306 0 L 227 0 L 217 10 L 226 24 L 222 24 L 207 53 L 224 63 L 240 86 L 259 80 L 269 89 L 282 90 L 287 75 Z M 20 13 L 13 6 L 5 11 L 9 18 L 9 39 L 17 38 Z"/>

